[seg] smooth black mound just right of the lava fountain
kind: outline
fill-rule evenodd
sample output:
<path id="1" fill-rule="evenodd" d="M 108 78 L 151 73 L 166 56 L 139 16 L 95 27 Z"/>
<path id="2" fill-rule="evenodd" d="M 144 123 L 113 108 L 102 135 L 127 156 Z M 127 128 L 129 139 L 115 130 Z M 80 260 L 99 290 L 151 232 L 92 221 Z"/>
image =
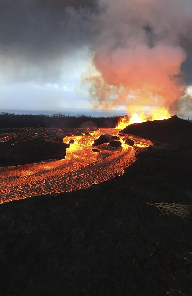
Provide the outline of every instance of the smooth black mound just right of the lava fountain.
<path id="1" fill-rule="evenodd" d="M 165 120 L 131 124 L 121 132 L 163 143 L 178 145 L 192 143 L 192 123 L 176 115 Z"/>

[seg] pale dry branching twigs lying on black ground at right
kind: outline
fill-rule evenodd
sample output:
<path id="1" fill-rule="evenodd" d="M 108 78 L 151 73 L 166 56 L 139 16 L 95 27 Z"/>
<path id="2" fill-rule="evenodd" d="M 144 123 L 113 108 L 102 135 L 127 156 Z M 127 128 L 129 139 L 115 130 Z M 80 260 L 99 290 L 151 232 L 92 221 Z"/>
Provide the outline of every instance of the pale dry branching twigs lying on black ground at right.
<path id="1" fill-rule="evenodd" d="M 187 218 L 192 210 L 192 207 L 189 205 L 178 205 L 174 203 L 147 203 L 148 205 L 152 205 L 157 207 L 162 213 L 162 215 L 173 215 L 180 217 L 182 219 Z"/>

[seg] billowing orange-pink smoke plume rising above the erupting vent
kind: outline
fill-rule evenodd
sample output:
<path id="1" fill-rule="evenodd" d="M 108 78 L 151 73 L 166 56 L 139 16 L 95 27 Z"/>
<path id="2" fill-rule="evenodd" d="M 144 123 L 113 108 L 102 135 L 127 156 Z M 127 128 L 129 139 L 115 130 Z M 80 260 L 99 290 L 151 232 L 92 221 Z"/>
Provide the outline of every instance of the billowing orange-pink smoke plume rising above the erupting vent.
<path id="1" fill-rule="evenodd" d="M 175 112 L 186 89 L 181 65 L 192 39 L 191 0 L 99 0 L 90 93 L 100 107 Z"/>

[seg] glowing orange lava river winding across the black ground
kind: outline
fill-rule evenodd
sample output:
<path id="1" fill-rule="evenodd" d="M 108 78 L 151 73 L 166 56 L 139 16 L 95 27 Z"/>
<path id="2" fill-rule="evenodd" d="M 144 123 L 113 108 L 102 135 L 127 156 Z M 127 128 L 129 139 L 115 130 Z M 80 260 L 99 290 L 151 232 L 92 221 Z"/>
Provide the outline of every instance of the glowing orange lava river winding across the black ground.
<path id="1" fill-rule="evenodd" d="M 130 136 L 135 142 L 133 147 L 126 144 L 123 144 L 123 148 L 113 148 L 108 144 L 91 146 L 99 136 L 118 136 L 118 132 L 117 129 L 100 129 L 87 136 L 64 137 L 65 143 L 75 140 L 75 144 L 70 144 L 67 149 L 64 160 L 1 167 L 0 202 L 79 190 L 122 175 L 124 168 L 136 160 L 136 154 L 152 143 Z M 100 152 L 93 152 L 93 148 Z"/>

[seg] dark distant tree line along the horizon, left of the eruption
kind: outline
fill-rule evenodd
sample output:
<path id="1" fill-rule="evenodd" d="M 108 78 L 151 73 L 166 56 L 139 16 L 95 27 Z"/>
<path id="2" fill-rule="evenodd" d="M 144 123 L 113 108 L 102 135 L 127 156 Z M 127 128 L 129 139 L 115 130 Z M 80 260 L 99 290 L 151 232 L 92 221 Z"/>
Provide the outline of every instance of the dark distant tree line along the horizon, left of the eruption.
<path id="1" fill-rule="evenodd" d="M 95 126 L 98 128 L 114 128 L 118 123 L 118 116 L 91 117 L 87 115 L 69 116 L 53 114 L 52 116 L 38 114 L 0 113 L 0 128 L 79 128 Z"/>

